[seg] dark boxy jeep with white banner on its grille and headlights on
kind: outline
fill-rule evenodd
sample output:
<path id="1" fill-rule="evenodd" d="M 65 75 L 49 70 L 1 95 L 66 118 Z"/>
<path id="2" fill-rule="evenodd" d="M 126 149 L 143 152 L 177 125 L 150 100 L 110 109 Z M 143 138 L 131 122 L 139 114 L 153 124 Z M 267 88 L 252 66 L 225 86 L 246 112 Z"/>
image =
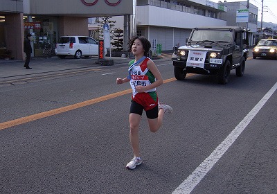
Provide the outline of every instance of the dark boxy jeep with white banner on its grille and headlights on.
<path id="1" fill-rule="evenodd" d="M 231 69 L 244 74 L 249 55 L 247 30 L 238 26 L 193 28 L 185 46 L 175 46 L 172 54 L 175 78 L 186 73 L 215 74 L 220 84 L 229 80 Z"/>

